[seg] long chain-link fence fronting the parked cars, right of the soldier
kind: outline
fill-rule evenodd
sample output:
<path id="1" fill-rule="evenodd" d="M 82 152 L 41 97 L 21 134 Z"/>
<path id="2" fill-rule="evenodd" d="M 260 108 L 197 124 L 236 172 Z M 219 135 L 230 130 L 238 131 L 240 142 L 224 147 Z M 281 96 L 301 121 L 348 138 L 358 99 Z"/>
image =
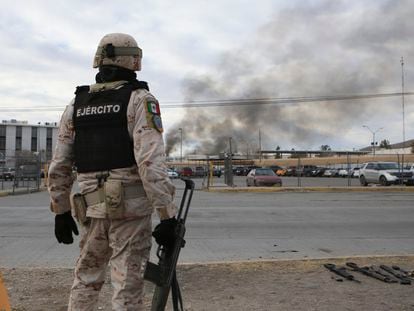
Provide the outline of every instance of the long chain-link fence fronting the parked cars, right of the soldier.
<path id="1" fill-rule="evenodd" d="M 246 178 L 253 168 L 267 167 L 282 179 L 286 187 L 360 187 L 360 169 L 365 163 L 388 162 L 393 166 L 391 176 L 403 176 L 388 180 L 385 184 L 372 180 L 372 185 L 405 186 L 414 184 L 414 154 L 382 155 L 341 155 L 325 157 L 295 157 L 285 159 L 256 160 L 199 160 L 169 162 L 168 167 L 174 177 L 197 179 L 201 187 L 246 186 Z M 381 171 L 381 170 L 378 170 Z M 170 176 L 171 177 L 171 176 Z M 173 177 L 173 178 L 174 178 Z"/>

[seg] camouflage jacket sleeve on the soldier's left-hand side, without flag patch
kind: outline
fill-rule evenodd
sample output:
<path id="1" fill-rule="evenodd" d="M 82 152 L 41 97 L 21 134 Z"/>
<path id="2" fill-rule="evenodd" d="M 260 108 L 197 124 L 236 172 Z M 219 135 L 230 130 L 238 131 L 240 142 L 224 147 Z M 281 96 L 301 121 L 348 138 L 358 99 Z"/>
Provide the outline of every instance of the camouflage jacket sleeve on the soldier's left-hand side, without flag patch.
<path id="1" fill-rule="evenodd" d="M 72 173 L 74 129 L 73 101 L 66 107 L 60 120 L 56 149 L 49 166 L 48 190 L 50 209 L 56 214 L 70 211 L 70 193 L 74 181 Z"/>

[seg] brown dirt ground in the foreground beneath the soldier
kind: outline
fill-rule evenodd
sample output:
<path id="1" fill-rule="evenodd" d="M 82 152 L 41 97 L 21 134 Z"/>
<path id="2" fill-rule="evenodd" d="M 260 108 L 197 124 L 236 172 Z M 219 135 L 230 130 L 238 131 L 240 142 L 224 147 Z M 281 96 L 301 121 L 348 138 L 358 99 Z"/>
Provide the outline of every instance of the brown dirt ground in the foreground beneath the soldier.
<path id="1" fill-rule="evenodd" d="M 187 311 L 414 310 L 414 282 L 387 284 L 356 272 L 352 274 L 361 283 L 340 282 L 323 267 L 324 263 L 344 265 L 347 261 L 414 269 L 414 256 L 194 264 L 179 266 L 178 280 Z M 12 310 L 66 310 L 71 269 L 0 268 L 0 272 Z M 148 284 L 148 309 L 152 290 Z M 111 310 L 110 297 L 107 278 L 98 310 Z M 172 310 L 171 306 L 167 310 Z"/>

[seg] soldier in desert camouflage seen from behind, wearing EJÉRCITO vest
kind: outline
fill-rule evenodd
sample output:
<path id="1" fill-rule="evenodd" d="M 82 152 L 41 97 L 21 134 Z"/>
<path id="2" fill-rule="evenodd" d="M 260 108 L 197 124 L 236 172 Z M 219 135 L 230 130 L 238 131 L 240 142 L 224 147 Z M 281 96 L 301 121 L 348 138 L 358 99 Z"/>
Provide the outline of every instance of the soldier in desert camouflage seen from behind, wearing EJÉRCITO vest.
<path id="1" fill-rule="evenodd" d="M 93 310 L 110 264 L 113 310 L 144 310 L 145 264 L 153 235 L 173 243 L 175 187 L 164 163 L 158 101 L 136 79 L 142 51 L 127 34 L 104 36 L 93 62 L 96 83 L 76 89 L 59 126 L 48 189 L 59 243 L 81 228 L 68 310 Z M 80 193 L 72 194 L 73 169 Z M 72 212 L 71 212 L 72 207 Z"/>

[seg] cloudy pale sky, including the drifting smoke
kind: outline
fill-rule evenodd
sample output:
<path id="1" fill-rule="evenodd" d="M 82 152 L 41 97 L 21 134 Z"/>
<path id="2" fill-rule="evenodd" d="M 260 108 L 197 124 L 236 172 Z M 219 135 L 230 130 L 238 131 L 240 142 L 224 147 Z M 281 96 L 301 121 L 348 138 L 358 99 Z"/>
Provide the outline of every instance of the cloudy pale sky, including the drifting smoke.
<path id="1" fill-rule="evenodd" d="M 0 118 L 58 122 L 107 33 L 135 37 L 138 79 L 160 102 L 169 154 L 233 148 L 354 150 L 414 138 L 414 2 L 0 0 Z M 404 67 L 400 60 L 404 57 Z M 404 70 L 404 75 L 402 74 Z M 217 106 L 212 101 L 247 100 Z M 177 108 L 207 102 L 207 107 Z M 210 104 L 210 106 L 209 106 Z M 174 105 L 175 108 L 169 107 Z M 403 117 L 404 111 L 404 117 Z M 363 127 L 363 125 L 368 126 Z M 377 131 L 378 130 L 378 131 Z M 260 134 L 259 134 L 260 133 Z"/>

